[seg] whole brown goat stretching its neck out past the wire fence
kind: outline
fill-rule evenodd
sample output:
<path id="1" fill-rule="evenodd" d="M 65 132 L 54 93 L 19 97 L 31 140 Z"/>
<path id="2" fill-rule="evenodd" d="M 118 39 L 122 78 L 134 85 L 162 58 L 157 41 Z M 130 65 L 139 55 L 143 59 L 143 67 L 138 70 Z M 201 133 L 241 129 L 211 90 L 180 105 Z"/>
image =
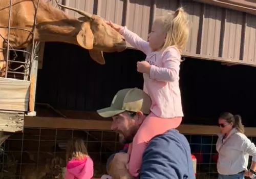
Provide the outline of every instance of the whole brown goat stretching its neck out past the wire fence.
<path id="1" fill-rule="evenodd" d="M 12 0 L 10 18 L 9 47 L 26 48 L 31 44 L 34 16 L 36 13 L 35 41 L 58 41 L 76 44 L 88 49 L 93 60 L 104 64 L 103 52 L 121 52 L 126 49 L 126 42 L 118 32 L 108 26 L 98 15 L 59 5 L 82 15 L 78 19 L 60 9 L 54 8 L 45 0 Z M 6 60 L 8 40 L 10 1 L 0 1 L 0 60 Z M 14 29 L 19 28 L 19 29 Z M 25 30 L 21 30 L 26 29 Z M 1 37 L 2 36 L 2 37 Z M 2 50 L 4 48 L 4 50 Z M 5 70 L 6 62 L 0 62 L 0 71 Z M 1 75 L 0 75 L 1 76 Z"/>

